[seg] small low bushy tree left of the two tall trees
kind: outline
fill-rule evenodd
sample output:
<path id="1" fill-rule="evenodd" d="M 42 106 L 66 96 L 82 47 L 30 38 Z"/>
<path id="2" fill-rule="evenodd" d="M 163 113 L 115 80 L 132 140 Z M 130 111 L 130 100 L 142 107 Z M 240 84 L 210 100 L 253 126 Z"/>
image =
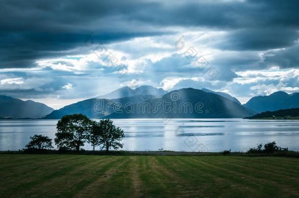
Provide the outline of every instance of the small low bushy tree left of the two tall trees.
<path id="1" fill-rule="evenodd" d="M 50 139 L 49 136 L 35 134 L 31 136 L 30 139 L 26 145 L 27 149 L 44 150 L 53 148 L 52 139 Z"/>

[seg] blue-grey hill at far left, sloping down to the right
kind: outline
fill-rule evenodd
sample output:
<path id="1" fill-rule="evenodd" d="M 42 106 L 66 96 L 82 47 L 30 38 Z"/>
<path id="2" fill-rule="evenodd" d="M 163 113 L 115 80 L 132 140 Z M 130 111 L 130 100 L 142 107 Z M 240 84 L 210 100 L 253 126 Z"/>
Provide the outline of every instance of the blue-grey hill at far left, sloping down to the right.
<path id="1" fill-rule="evenodd" d="M 2 118 L 39 118 L 52 111 L 52 108 L 43 103 L 0 95 L 0 117 Z"/>

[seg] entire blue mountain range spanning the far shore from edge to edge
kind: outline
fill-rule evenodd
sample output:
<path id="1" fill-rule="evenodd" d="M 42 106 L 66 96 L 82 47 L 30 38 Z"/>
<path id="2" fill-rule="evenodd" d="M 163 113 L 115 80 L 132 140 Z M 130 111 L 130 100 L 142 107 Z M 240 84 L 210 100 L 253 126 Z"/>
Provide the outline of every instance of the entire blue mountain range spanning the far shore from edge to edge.
<path id="1" fill-rule="evenodd" d="M 142 107 L 140 103 L 143 103 Z M 164 107 L 159 106 L 163 103 L 174 109 L 165 113 Z M 200 109 L 199 104 L 202 104 Z M 175 105 L 177 106 L 174 107 Z M 299 93 L 277 91 L 268 96 L 253 97 L 242 105 L 237 98 L 227 93 L 205 88 L 182 88 L 168 92 L 162 88 L 141 86 L 135 89 L 119 88 L 59 110 L 53 110 L 42 103 L 8 96 L 0 96 L 0 107 L 2 118 L 60 119 L 63 115 L 72 113 L 82 113 L 89 118 L 243 118 L 263 111 L 297 108 Z M 189 110 L 190 107 L 192 111 Z M 150 108 L 151 111 L 137 111 L 138 108 Z M 175 108 L 180 108 L 181 111 Z"/>

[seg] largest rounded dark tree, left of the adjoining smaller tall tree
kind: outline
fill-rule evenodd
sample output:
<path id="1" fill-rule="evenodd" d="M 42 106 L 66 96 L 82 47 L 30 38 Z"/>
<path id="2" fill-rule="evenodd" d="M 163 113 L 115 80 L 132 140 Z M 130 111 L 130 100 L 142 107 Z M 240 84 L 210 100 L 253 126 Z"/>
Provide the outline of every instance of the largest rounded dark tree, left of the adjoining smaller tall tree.
<path id="1" fill-rule="evenodd" d="M 57 123 L 55 144 L 59 149 L 80 150 L 87 141 L 92 121 L 83 114 L 64 115 Z"/>

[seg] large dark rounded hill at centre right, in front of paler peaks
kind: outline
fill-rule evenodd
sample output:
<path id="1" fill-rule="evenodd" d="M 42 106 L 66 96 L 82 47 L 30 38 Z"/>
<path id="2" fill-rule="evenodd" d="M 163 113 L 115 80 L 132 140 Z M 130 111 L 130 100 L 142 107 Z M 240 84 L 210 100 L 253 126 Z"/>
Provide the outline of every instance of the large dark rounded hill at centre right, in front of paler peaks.
<path id="1" fill-rule="evenodd" d="M 237 102 L 194 88 L 174 90 L 161 98 L 149 99 L 146 103 L 149 107 L 135 104 L 130 111 L 114 112 L 105 118 L 243 118 L 254 114 Z M 169 106 L 163 109 L 162 105 L 159 106 L 163 103 Z"/>

